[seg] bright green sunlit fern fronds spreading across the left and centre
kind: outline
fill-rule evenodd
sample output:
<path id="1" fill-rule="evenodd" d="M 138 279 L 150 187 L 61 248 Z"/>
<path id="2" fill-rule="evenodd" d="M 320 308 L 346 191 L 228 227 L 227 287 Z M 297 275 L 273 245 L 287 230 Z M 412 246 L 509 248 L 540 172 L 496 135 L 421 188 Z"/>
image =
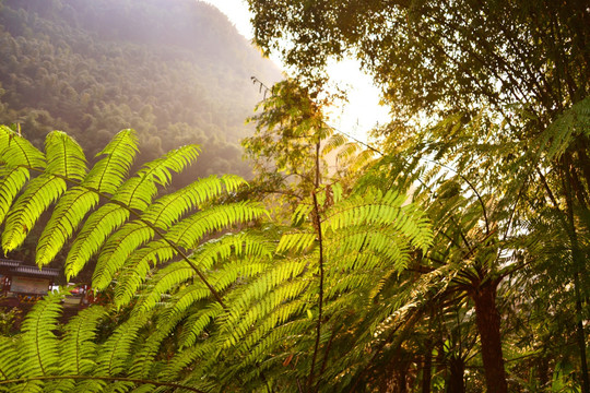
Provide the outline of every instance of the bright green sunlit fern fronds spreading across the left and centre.
<path id="1" fill-rule="evenodd" d="M 7 144 L 12 139 L 21 136 L 5 138 Z M 78 147 L 64 147 L 69 148 Z M 341 356 L 350 355 L 346 376 L 362 373 L 367 366 L 363 354 L 381 348 L 374 334 L 394 334 L 396 323 L 415 318 L 396 314 L 406 305 L 387 298 L 393 295 L 386 285 L 403 273 L 412 252 L 425 250 L 433 239 L 425 216 L 405 195 L 378 188 L 315 187 L 295 209 L 292 226 L 236 233 L 228 228 L 246 227 L 266 215 L 255 202 L 214 203 L 241 187 L 243 180 L 211 177 L 158 196 L 172 172 L 192 162 L 197 150 L 170 152 L 128 177 L 134 151 L 133 132 L 126 130 L 87 172 L 80 164 L 82 156 L 78 167 L 67 162 L 68 170 L 76 168 L 71 178 L 63 165 L 51 164 L 61 170 L 56 174 L 40 166 L 45 158 L 35 150 L 31 156 L 37 157 L 39 168 L 24 160 L 2 162 L 7 174 L 12 168 L 40 171 L 31 182 L 43 178 L 63 182 L 63 190 L 54 192 L 57 203 L 39 241 L 39 265 L 75 236 L 66 260 L 68 277 L 95 257 L 93 286 L 106 288 L 115 282 L 115 305 L 130 308 L 129 318 L 97 342 L 103 309 L 84 311 L 68 323 L 63 337 L 56 337 L 51 331 L 60 306 L 57 298 L 44 300 L 47 306 L 26 322 L 34 326 L 30 318 L 43 315 L 38 321 L 45 323 L 36 326 L 47 343 L 42 352 L 31 350 L 43 361 L 37 365 L 31 358 L 23 368 L 0 362 L 0 370 L 20 379 L 19 386 L 222 392 L 297 390 L 308 383 L 309 389 L 338 390 L 350 382 L 337 378 L 339 372 L 332 369 L 343 365 Z M 47 157 L 48 163 L 54 159 L 49 153 Z M 12 180 L 0 187 L 17 190 L 20 183 L 12 182 L 24 182 L 26 174 L 2 179 Z M 31 182 L 19 199 L 52 195 Z M 3 203 L 11 203 L 11 198 Z M 31 205 L 36 219 L 49 204 Z M 8 216 L 23 219 L 19 206 L 14 202 Z M 224 235 L 213 236 L 217 231 Z M 33 331 L 27 327 L 23 337 Z M 170 337 L 173 350 L 163 358 L 161 350 Z M 285 354 L 293 355 L 288 361 Z M 320 383 L 306 382 L 310 374 Z M 44 376 L 60 381 L 42 380 Z"/>

